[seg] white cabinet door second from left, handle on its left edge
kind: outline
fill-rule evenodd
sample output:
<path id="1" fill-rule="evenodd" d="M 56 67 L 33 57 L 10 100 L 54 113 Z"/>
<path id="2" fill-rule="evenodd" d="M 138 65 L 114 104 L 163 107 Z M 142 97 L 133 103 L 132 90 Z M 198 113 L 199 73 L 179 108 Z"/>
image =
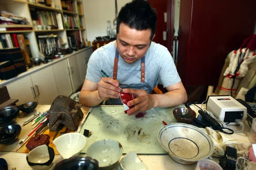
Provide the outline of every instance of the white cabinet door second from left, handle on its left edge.
<path id="1" fill-rule="evenodd" d="M 38 103 L 50 105 L 58 96 L 52 65 L 30 75 Z"/>

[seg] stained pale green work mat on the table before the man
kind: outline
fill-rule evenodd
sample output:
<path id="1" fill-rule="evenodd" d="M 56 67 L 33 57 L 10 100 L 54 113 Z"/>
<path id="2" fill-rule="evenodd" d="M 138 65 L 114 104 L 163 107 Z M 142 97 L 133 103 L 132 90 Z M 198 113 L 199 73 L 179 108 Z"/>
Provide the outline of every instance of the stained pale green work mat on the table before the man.
<path id="1" fill-rule="evenodd" d="M 86 153 L 93 142 L 114 139 L 122 144 L 123 153 L 136 151 L 137 154 L 166 154 L 157 140 L 157 134 L 163 127 L 162 121 L 167 124 L 176 122 L 172 114 L 174 109 L 152 108 L 146 111 L 144 117 L 136 118 L 135 115 L 125 114 L 123 106 L 94 107 L 80 131 L 81 134 L 84 129 L 92 131 L 86 137 L 87 141 L 81 153 Z"/>

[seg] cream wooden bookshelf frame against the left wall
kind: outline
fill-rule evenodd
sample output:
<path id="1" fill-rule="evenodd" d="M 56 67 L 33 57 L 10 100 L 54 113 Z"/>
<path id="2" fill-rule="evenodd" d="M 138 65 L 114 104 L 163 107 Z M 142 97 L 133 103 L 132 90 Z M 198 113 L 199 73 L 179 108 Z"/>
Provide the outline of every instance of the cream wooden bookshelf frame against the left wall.
<path id="1" fill-rule="evenodd" d="M 3 31 L 0 29 L 1 34 L 23 34 L 24 38 L 29 40 L 29 46 L 31 50 L 32 57 L 38 57 L 38 52 L 40 51 L 40 47 L 38 44 L 38 36 L 40 35 L 48 35 L 54 34 L 57 35 L 61 40 L 63 40 L 65 47 L 70 47 L 69 43 L 69 36 L 72 34 L 79 34 L 76 36 L 77 42 L 82 42 L 82 40 L 87 40 L 87 33 L 85 27 L 85 20 L 84 20 L 84 12 L 83 12 L 83 2 L 81 0 L 52 0 L 50 6 L 45 6 L 40 3 L 33 3 L 36 0 L 1 0 L 0 10 L 5 10 L 10 13 L 19 15 L 21 17 L 26 17 L 29 24 L 28 25 L 0 25 L 0 28 L 24 28 L 22 30 L 6 30 Z M 70 3 L 71 2 L 71 3 Z M 51 25 L 51 28 L 47 28 L 44 26 L 45 18 L 42 17 L 43 20 L 41 27 L 35 26 L 35 21 L 38 19 L 35 15 L 45 14 L 47 19 L 49 18 L 49 14 L 51 16 L 52 22 L 55 23 L 55 27 Z M 52 17 L 55 15 L 55 17 Z M 60 15 L 62 27 L 58 28 L 57 15 Z M 66 27 L 64 16 L 72 17 L 73 22 L 75 21 L 76 26 L 79 27 Z M 36 19 L 37 18 L 37 19 Z M 39 17 L 40 18 L 40 17 Z M 54 20 L 56 18 L 56 20 Z M 40 19 L 39 19 L 40 20 Z M 49 19 L 50 20 L 50 19 Z M 48 21 L 49 21 L 48 20 Z M 53 21 L 54 20 L 54 21 Z M 47 21 L 47 22 L 48 22 Z M 56 22 L 57 21 L 57 22 Z M 71 22 L 71 21 L 66 21 Z M 49 23 L 49 22 L 48 22 Z M 38 22 L 38 25 L 39 22 Z M 74 23 L 73 23 L 74 25 Z M 81 26 L 80 26 L 81 25 Z M 28 30 L 26 30 L 28 28 Z M 87 44 L 87 43 L 86 43 Z"/>

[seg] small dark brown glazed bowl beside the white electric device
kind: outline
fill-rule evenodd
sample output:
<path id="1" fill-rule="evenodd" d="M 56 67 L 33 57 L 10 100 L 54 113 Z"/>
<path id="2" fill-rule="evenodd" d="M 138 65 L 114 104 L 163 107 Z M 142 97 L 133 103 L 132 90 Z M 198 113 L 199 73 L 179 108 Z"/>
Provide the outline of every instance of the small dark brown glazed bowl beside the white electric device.
<path id="1" fill-rule="evenodd" d="M 190 124 L 196 116 L 195 111 L 189 108 L 176 108 L 172 111 L 173 116 L 179 123 Z"/>

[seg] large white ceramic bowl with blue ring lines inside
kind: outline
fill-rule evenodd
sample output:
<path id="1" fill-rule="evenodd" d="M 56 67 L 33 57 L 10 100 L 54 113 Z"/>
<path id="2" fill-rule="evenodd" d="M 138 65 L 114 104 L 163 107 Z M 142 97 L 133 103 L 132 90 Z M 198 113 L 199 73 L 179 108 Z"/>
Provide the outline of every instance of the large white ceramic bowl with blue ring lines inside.
<path id="1" fill-rule="evenodd" d="M 210 136 L 193 125 L 166 125 L 160 129 L 157 138 L 169 156 L 181 164 L 193 164 L 211 156 L 214 151 Z"/>

